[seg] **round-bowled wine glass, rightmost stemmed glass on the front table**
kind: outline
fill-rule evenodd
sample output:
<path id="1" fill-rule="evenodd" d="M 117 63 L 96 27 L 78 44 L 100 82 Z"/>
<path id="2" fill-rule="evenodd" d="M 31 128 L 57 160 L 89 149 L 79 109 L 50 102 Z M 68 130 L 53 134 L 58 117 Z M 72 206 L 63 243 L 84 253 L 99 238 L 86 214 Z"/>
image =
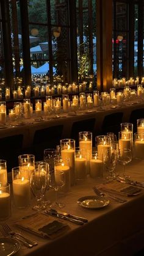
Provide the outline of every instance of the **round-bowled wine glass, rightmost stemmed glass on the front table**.
<path id="1" fill-rule="evenodd" d="M 118 161 L 123 164 L 123 178 L 130 178 L 126 175 L 125 169 L 126 164 L 130 163 L 132 161 L 132 151 L 130 148 L 120 148 L 118 150 Z"/>

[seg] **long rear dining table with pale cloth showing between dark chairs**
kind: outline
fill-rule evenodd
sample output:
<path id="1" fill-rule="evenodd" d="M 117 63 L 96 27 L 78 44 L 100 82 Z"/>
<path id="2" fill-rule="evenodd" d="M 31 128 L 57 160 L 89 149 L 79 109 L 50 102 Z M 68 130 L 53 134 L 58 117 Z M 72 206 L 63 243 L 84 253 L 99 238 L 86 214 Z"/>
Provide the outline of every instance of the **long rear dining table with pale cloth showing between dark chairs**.
<path id="1" fill-rule="evenodd" d="M 23 148 L 31 147 L 34 141 L 34 135 L 37 130 L 42 130 L 50 126 L 63 125 L 62 137 L 71 136 L 71 128 L 74 122 L 95 119 L 94 130 L 96 133 L 101 132 L 101 127 L 103 125 L 103 120 L 106 115 L 123 112 L 122 122 L 129 122 L 129 117 L 131 112 L 135 109 L 144 108 L 143 101 L 137 101 L 134 103 L 128 102 L 122 104 L 121 106 L 107 106 L 104 108 L 93 108 L 86 110 L 79 110 L 76 112 L 62 112 L 61 114 L 49 114 L 43 115 L 42 118 L 35 117 L 35 114 L 31 119 L 16 120 L 15 122 L 9 122 L 9 117 L 7 117 L 6 126 L 0 125 L 0 139 L 3 137 L 14 136 L 16 134 L 23 134 Z"/>

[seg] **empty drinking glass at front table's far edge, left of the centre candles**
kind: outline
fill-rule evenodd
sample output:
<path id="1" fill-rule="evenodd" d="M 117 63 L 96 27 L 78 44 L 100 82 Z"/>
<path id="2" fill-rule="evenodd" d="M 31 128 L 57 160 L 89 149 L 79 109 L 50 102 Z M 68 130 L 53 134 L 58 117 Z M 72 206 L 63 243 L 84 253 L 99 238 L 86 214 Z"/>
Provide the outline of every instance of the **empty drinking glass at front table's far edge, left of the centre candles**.
<path id="1" fill-rule="evenodd" d="M 46 148 L 44 150 L 43 159 L 46 163 L 49 164 L 49 172 L 52 172 L 52 170 L 54 170 L 54 158 L 56 158 L 56 156 L 56 148 Z"/>

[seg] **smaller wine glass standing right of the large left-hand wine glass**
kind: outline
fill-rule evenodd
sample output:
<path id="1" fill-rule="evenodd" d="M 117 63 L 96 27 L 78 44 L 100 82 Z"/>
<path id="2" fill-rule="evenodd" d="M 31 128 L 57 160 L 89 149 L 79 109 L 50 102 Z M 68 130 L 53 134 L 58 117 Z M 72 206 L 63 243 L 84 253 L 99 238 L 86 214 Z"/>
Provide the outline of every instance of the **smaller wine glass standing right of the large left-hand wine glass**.
<path id="1" fill-rule="evenodd" d="M 64 174 L 62 170 L 54 170 L 51 172 L 49 187 L 53 188 L 55 191 L 55 201 L 52 203 L 51 207 L 54 208 L 63 208 L 65 205 L 63 203 L 58 202 L 57 200 L 57 191 L 59 188 L 62 188 L 65 184 Z"/>

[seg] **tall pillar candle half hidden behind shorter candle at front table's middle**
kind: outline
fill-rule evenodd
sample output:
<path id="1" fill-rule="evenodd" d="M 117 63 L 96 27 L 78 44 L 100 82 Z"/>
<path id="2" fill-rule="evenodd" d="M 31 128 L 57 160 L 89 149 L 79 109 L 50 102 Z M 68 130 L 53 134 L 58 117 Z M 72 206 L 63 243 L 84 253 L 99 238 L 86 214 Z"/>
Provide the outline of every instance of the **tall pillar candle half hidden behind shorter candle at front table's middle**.
<path id="1" fill-rule="evenodd" d="M 74 149 L 63 149 L 61 150 L 61 156 L 63 159 L 70 159 L 70 181 L 71 186 L 74 185 L 75 182 L 75 152 Z"/>

